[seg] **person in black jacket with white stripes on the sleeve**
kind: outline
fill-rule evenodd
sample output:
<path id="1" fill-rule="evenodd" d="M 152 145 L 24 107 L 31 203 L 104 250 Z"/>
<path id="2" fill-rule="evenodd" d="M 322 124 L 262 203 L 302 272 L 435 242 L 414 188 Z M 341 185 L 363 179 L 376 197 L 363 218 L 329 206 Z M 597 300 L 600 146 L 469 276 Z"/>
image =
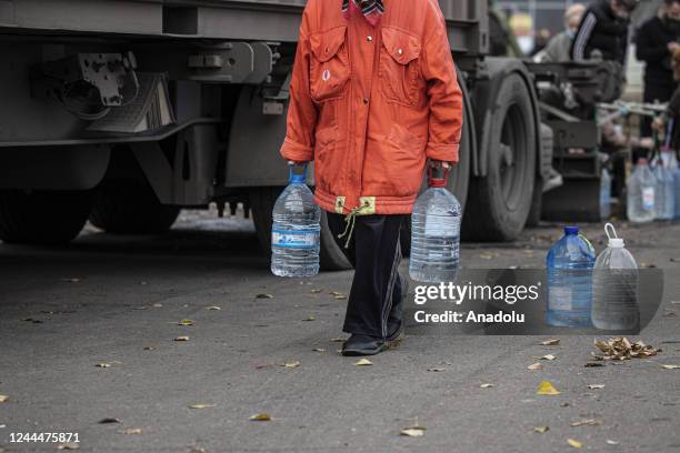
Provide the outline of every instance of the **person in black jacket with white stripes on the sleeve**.
<path id="1" fill-rule="evenodd" d="M 626 66 L 630 14 L 639 0 L 596 0 L 583 14 L 571 44 L 573 61 L 590 60 L 597 53 L 602 60 Z"/>

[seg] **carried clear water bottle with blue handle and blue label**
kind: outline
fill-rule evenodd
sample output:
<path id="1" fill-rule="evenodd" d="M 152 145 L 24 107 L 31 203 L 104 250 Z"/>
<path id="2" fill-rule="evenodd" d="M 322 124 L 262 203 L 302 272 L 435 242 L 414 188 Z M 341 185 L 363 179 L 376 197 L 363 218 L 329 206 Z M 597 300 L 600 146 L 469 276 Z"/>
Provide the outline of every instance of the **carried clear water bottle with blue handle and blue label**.
<path id="1" fill-rule="evenodd" d="M 290 184 L 277 200 L 271 226 L 271 272 L 279 276 L 319 273 L 321 211 L 302 174 L 290 167 Z"/>

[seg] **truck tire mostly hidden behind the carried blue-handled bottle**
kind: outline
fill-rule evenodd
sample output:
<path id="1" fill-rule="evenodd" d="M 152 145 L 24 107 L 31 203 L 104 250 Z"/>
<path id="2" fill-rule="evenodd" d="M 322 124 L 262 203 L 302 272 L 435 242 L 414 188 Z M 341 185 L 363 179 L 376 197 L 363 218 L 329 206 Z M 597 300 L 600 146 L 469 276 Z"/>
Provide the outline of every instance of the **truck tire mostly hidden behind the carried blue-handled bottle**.
<path id="1" fill-rule="evenodd" d="M 264 252 L 271 249 L 271 213 L 283 188 L 257 188 L 250 191 L 250 209 L 260 245 Z M 323 271 L 346 271 L 352 265 L 337 244 L 328 228 L 326 211 L 321 210 L 321 250 L 319 259 Z"/>

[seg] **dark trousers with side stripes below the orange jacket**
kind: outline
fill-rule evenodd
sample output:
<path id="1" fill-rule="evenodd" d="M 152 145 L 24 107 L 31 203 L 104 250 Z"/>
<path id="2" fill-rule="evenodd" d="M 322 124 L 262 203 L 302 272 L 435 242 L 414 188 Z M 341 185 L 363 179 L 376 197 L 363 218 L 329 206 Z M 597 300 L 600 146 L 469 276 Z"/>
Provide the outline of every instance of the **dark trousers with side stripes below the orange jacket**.
<path id="1" fill-rule="evenodd" d="M 402 320 L 399 304 L 399 231 L 406 215 L 358 215 L 347 249 L 347 238 L 338 238 L 346 230 L 344 218 L 328 213 L 330 231 L 354 265 L 354 280 L 342 330 L 386 339 L 399 328 Z"/>

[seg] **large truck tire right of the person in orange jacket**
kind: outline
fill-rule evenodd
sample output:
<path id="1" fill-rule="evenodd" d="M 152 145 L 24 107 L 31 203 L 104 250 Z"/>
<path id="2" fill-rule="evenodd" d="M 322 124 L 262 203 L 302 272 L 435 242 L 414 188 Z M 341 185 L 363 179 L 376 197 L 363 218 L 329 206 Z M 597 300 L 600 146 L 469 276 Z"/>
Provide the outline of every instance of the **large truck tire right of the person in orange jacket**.
<path id="1" fill-rule="evenodd" d="M 483 150 L 487 172 L 470 184 L 463 217 L 464 240 L 514 240 L 522 232 L 532 204 L 537 164 L 532 97 L 517 72 L 498 83 L 479 142 L 487 147 Z"/>

